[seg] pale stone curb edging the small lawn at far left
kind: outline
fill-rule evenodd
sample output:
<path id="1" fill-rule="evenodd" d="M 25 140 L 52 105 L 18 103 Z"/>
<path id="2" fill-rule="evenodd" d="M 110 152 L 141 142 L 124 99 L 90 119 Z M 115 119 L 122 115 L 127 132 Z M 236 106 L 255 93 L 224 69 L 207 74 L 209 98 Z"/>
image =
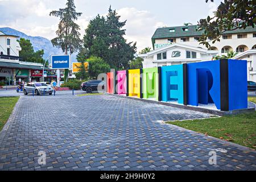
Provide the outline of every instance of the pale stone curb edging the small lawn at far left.
<path id="1" fill-rule="evenodd" d="M 6 96 L 6 97 L 9 97 L 9 96 Z M 2 142 L 3 142 L 3 139 L 5 138 L 6 136 L 6 133 L 7 133 L 7 130 L 9 129 L 9 126 L 13 123 L 15 117 L 16 117 L 16 110 L 18 110 L 18 107 L 20 105 L 20 100 L 23 96 L 19 96 L 19 99 L 18 101 L 16 102 L 14 108 L 13 108 L 13 111 L 11 112 L 11 115 L 10 117 L 8 118 L 7 122 L 5 123 L 5 125 L 3 126 L 3 129 L 2 131 L 0 131 L 0 147 L 2 146 Z"/>

